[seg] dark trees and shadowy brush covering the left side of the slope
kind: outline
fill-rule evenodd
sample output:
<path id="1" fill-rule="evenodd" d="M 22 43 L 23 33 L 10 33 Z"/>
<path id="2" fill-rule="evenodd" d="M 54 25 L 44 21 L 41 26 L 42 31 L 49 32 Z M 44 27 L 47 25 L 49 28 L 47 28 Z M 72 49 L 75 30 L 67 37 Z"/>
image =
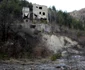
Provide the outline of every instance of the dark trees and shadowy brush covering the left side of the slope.
<path id="1" fill-rule="evenodd" d="M 31 6 L 31 3 L 25 2 Z M 23 0 L 0 1 L 0 58 L 18 58 L 25 55 L 25 53 L 30 54 L 32 52 L 30 41 L 27 40 L 29 38 L 23 39 L 24 37 L 19 35 L 18 29 L 16 29 L 17 32 L 14 32 L 11 27 L 12 25 L 16 27 L 17 23 L 14 23 L 22 20 L 23 4 Z"/>

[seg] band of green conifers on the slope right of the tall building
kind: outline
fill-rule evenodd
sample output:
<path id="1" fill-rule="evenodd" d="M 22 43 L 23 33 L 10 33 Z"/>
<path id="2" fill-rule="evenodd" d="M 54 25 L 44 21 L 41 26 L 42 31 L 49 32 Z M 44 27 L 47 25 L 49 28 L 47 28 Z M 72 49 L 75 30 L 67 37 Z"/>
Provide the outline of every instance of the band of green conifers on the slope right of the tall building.
<path id="1" fill-rule="evenodd" d="M 72 29 L 85 30 L 84 24 L 80 20 L 74 19 L 69 13 L 61 10 L 57 11 L 55 6 L 48 10 L 49 22 L 54 22 L 60 26 L 67 26 Z"/>

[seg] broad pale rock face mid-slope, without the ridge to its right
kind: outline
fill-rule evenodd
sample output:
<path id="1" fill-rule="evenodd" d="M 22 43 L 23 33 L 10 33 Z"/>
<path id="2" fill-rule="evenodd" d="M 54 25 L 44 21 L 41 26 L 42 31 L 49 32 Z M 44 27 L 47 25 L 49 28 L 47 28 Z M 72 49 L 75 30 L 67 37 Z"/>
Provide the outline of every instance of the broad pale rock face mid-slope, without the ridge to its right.
<path id="1" fill-rule="evenodd" d="M 64 40 L 62 37 L 57 37 L 56 35 L 43 35 L 42 39 L 44 39 L 46 46 L 48 49 L 54 51 L 56 53 L 57 50 L 61 49 L 64 45 Z"/>

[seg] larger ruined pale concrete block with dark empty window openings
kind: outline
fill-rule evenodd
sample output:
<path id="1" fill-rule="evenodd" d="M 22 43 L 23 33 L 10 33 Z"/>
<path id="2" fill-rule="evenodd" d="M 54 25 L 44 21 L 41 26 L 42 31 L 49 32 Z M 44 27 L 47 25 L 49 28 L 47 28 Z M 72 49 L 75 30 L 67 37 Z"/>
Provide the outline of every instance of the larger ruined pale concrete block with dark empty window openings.
<path id="1" fill-rule="evenodd" d="M 48 22 L 48 8 L 44 5 L 33 4 L 33 19 L 44 19 Z"/>

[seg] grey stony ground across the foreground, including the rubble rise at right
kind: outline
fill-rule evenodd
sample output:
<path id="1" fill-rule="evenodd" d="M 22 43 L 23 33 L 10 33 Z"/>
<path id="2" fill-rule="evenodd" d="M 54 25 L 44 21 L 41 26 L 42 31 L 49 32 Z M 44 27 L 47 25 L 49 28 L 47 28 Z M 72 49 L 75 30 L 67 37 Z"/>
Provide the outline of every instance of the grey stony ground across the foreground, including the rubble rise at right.
<path id="1" fill-rule="evenodd" d="M 0 70 L 85 70 L 83 51 L 73 48 L 66 50 L 63 50 L 63 56 L 56 61 L 49 59 L 0 61 Z"/>

